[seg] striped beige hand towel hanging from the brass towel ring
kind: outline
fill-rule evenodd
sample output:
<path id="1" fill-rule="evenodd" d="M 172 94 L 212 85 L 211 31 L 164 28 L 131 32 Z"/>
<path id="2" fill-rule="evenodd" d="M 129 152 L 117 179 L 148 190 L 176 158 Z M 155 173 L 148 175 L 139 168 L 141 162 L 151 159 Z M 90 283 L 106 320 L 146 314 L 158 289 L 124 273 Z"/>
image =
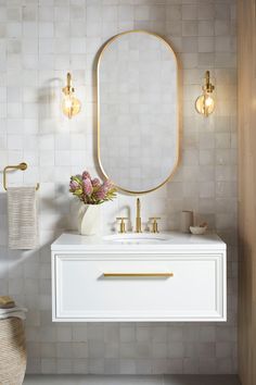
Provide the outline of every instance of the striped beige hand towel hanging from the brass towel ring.
<path id="1" fill-rule="evenodd" d="M 8 188 L 9 247 L 35 249 L 38 223 L 35 187 Z"/>

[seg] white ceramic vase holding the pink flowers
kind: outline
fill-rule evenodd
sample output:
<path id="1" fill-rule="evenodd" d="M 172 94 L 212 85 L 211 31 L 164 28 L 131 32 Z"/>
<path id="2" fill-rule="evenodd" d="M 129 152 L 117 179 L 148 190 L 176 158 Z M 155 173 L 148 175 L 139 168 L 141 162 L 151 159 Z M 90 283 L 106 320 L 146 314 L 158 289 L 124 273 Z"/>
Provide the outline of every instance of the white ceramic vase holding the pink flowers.
<path id="1" fill-rule="evenodd" d="M 78 212 L 78 232 L 95 235 L 101 231 L 101 204 L 82 204 Z"/>

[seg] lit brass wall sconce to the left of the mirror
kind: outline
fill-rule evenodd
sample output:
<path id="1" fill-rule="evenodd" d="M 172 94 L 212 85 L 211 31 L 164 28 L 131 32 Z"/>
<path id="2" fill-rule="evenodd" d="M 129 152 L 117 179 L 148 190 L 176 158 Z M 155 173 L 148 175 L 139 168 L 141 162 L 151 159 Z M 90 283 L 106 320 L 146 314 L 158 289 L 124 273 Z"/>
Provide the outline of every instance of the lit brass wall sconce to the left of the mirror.
<path id="1" fill-rule="evenodd" d="M 64 94 L 62 111 L 68 119 L 72 119 L 80 112 L 81 103 L 74 95 L 75 88 L 72 87 L 72 75 L 69 72 L 66 75 L 66 87 L 62 91 Z"/>

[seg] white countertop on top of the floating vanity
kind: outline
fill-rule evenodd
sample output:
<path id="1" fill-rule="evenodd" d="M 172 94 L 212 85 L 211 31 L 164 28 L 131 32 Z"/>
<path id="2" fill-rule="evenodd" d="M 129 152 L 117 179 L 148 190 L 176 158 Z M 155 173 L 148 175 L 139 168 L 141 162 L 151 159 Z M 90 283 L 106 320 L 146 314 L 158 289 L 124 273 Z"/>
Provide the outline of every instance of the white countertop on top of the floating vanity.
<path id="1" fill-rule="evenodd" d="M 146 233 L 143 233 L 146 234 Z M 175 232 L 159 233 L 164 240 L 150 243 L 113 241 L 103 236 L 82 236 L 77 233 L 63 233 L 52 245 L 52 251 L 172 251 L 172 250 L 226 250 L 226 244 L 214 233 L 204 235 L 182 234 Z M 121 237 L 121 235 L 119 235 Z M 136 236 L 135 234 L 132 235 Z M 149 236 L 151 236 L 149 234 Z M 154 235 L 152 235 L 154 237 Z"/>

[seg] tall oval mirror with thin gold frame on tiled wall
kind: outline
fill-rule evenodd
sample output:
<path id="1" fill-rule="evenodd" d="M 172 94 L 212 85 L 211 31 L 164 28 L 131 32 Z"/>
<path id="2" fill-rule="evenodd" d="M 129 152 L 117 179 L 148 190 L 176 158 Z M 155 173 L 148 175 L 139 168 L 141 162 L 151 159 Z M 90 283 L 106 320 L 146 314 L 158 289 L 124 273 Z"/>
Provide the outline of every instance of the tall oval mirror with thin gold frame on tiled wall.
<path id="1" fill-rule="evenodd" d="M 98 159 L 130 194 L 153 191 L 179 157 L 178 64 L 169 44 L 143 30 L 114 36 L 98 61 Z"/>

